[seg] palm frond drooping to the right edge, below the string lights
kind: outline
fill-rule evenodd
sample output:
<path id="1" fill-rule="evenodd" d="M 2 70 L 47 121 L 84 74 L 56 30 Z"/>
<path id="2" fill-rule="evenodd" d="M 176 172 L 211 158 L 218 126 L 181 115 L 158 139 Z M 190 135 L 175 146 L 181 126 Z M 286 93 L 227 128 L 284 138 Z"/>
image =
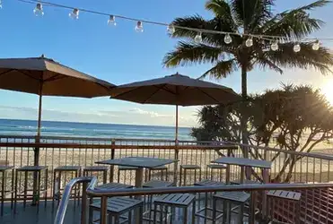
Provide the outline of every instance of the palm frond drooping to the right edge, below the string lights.
<path id="1" fill-rule="evenodd" d="M 330 67 L 333 65 L 333 54 L 327 47 L 313 50 L 313 42 L 301 43 L 301 51 L 294 52 L 292 42 L 279 45 L 277 51 L 267 51 L 265 56 L 275 65 L 286 68 L 302 68 L 319 70 L 320 73 L 332 73 Z"/>

